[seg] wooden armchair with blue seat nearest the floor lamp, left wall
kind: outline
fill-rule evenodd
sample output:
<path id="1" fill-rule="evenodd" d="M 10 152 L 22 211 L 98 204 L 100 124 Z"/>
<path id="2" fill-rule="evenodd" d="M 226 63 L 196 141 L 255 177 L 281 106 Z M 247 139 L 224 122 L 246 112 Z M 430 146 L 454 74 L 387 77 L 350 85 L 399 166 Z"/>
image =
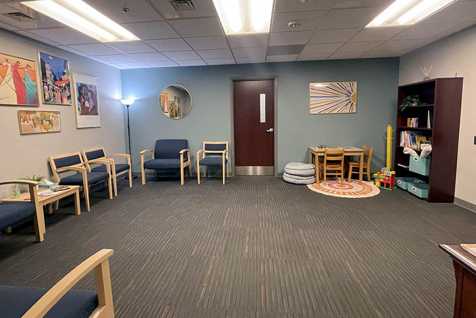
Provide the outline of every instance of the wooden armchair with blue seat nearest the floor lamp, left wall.
<path id="1" fill-rule="evenodd" d="M 125 153 L 115 153 L 112 155 L 106 155 L 106 152 L 104 151 L 104 147 L 97 147 L 97 148 L 91 148 L 91 149 L 86 149 L 81 151 L 83 155 L 83 159 L 85 161 L 88 160 L 94 160 L 94 159 L 110 159 L 111 160 L 111 172 L 113 176 L 113 183 L 114 183 L 114 196 L 118 196 L 118 184 L 117 184 L 117 174 L 121 173 L 122 171 L 129 170 L 129 188 L 132 188 L 132 172 L 130 168 L 130 155 L 125 154 Z M 124 157 L 127 159 L 127 163 L 116 163 L 112 157 Z M 105 172 L 107 171 L 105 165 L 100 165 L 98 167 L 91 168 L 91 165 L 89 163 L 86 164 L 86 168 L 88 169 L 88 172 L 97 172 L 97 171 L 102 171 Z"/>

